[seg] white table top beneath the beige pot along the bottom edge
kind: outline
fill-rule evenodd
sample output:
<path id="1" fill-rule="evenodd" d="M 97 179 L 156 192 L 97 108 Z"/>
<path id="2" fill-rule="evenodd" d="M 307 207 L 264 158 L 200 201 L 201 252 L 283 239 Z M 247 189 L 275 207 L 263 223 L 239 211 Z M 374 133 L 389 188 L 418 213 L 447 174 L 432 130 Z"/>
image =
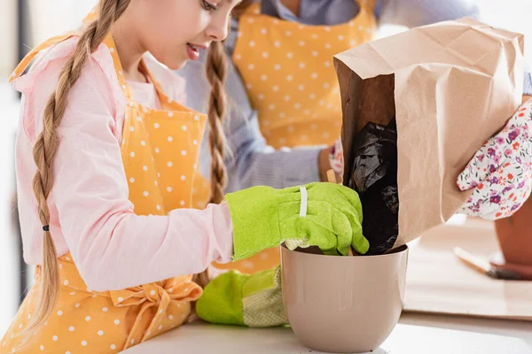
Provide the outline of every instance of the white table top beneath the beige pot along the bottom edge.
<path id="1" fill-rule="evenodd" d="M 127 354 L 309 352 L 290 328 L 248 329 L 202 324 L 177 328 L 125 351 Z M 372 354 L 427 353 L 532 353 L 532 323 L 408 313 L 403 314 L 394 332 Z"/>

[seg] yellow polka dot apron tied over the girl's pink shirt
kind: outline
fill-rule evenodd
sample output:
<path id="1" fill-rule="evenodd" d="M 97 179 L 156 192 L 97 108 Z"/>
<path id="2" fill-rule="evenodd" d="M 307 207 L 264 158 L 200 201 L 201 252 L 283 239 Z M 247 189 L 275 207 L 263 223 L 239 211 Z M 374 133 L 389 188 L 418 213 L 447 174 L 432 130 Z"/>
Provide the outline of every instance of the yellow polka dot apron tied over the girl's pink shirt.
<path id="1" fill-rule="evenodd" d="M 16 69 L 17 77 L 39 50 L 71 36 L 52 38 L 35 48 Z M 121 156 L 129 181 L 129 200 L 138 215 L 165 215 L 191 207 L 192 181 L 200 153 L 206 117 L 176 104 L 142 66 L 157 89 L 161 110 L 138 104 L 125 81 L 113 38 L 104 42 L 127 99 Z M 61 149 L 59 147 L 59 149 Z M 34 334 L 21 333 L 34 313 L 41 284 L 37 267 L 35 286 L 0 341 L 0 353 L 114 353 L 160 335 L 184 323 L 191 302 L 202 290 L 192 275 L 124 289 L 92 292 L 70 255 L 59 259 L 59 303 L 45 326 Z M 31 335 L 31 336 L 30 336 Z"/>

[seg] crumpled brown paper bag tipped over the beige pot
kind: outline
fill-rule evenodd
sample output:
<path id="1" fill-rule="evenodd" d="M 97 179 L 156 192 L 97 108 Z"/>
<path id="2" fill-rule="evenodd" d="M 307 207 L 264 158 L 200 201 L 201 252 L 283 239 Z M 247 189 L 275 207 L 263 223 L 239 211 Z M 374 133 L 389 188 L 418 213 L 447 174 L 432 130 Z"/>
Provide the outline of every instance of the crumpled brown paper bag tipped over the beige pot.
<path id="1" fill-rule="evenodd" d="M 523 35 L 473 19 L 418 27 L 338 54 L 344 184 L 353 137 L 397 124 L 399 236 L 395 247 L 458 211 L 459 173 L 521 101 Z"/>

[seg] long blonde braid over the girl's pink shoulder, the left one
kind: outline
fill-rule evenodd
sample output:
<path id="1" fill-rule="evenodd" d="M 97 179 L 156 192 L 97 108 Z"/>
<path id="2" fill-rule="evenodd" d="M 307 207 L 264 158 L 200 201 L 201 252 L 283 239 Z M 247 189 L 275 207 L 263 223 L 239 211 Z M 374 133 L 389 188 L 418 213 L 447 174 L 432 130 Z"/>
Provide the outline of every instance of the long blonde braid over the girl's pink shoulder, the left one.
<path id="1" fill-rule="evenodd" d="M 129 5 L 129 0 L 102 0 L 99 4 L 99 19 L 96 19 L 80 35 L 74 55 L 60 73 L 58 86 L 51 95 L 43 113 L 43 132 L 37 137 L 33 149 L 37 172 L 33 189 L 38 203 L 39 219 L 43 224 L 43 266 L 39 303 L 28 329 L 41 327 L 48 319 L 59 298 L 59 261 L 51 233 L 50 210 L 47 198 L 50 195 L 53 176 L 53 159 L 58 150 L 57 128 L 65 114 L 68 94 L 82 74 L 83 65 L 90 54 L 103 42 L 111 27 Z"/>

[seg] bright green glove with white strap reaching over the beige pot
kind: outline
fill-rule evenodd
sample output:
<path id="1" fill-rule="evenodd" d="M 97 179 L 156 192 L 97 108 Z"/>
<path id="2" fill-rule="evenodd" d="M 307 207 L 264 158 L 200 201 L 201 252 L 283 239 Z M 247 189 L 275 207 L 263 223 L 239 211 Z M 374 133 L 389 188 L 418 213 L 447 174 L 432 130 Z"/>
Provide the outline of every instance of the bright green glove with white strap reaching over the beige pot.
<path id="1" fill-rule="evenodd" d="M 356 192 L 333 183 L 271 189 L 253 187 L 226 196 L 233 223 L 233 259 L 297 241 L 325 254 L 347 255 L 349 246 L 364 254 L 362 205 Z M 293 242 L 290 242 L 293 244 Z"/>

